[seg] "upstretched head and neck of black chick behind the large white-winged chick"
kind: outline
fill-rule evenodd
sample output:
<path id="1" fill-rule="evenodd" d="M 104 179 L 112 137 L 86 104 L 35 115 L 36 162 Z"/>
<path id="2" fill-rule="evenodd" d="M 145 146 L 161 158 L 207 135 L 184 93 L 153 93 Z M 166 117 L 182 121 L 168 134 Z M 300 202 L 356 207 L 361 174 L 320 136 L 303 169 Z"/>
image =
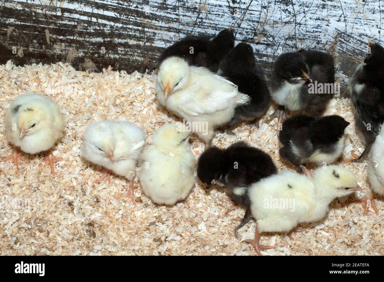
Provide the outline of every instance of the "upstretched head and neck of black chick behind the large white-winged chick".
<path id="1" fill-rule="evenodd" d="M 207 43 L 207 52 L 197 54 L 196 64 L 217 72 L 224 56 L 233 49 L 235 36 L 231 27 L 222 30 Z"/>

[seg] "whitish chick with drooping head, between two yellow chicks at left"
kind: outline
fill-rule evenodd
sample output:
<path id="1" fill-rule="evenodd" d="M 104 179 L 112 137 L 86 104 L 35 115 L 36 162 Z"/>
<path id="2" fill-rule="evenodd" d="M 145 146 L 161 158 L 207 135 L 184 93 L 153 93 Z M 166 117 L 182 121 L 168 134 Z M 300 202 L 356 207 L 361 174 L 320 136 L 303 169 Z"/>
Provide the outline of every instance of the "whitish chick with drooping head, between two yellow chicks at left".
<path id="1" fill-rule="evenodd" d="M 109 182 L 111 172 L 127 178 L 131 201 L 135 204 L 133 192 L 136 162 L 145 142 L 145 133 L 136 124 L 103 120 L 88 125 L 80 152 L 89 162 L 107 169 L 94 183 L 100 183 L 105 178 Z"/>

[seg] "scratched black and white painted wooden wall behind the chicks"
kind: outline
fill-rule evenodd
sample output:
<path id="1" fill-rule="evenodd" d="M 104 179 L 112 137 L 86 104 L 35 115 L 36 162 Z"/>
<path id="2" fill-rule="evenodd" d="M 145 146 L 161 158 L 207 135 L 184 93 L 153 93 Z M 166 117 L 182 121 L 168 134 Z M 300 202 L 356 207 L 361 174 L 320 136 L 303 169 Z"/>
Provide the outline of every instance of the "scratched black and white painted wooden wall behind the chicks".
<path id="1" fill-rule="evenodd" d="M 382 42 L 382 22 L 380 0 L 5 0 L 0 63 L 66 61 L 80 70 L 145 72 L 179 38 L 232 26 L 237 43 L 250 43 L 267 73 L 282 52 L 329 51 L 343 87 L 367 40 Z"/>

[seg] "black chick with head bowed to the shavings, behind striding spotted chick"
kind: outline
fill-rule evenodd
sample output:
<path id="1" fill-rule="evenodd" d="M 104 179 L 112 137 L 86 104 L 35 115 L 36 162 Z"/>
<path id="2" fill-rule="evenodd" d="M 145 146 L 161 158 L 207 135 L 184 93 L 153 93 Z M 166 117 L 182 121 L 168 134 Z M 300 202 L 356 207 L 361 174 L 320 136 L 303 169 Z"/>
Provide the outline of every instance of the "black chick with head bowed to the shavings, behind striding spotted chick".
<path id="1" fill-rule="evenodd" d="M 227 187 L 230 197 L 246 208 L 242 223 L 235 231 L 244 226 L 250 218 L 250 199 L 248 188 L 252 183 L 277 173 L 272 158 L 245 142 L 237 142 L 226 149 L 209 147 L 200 156 L 197 176 L 209 189 L 211 183 Z"/>

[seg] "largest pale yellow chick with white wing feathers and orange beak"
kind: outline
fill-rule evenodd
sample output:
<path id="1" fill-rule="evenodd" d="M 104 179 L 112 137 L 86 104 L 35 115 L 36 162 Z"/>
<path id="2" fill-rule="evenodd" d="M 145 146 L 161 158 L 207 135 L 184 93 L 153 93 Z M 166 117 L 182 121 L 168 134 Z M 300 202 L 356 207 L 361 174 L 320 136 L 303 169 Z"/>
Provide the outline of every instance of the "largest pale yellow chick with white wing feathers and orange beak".
<path id="1" fill-rule="evenodd" d="M 179 57 L 162 62 L 155 90 L 159 103 L 191 122 L 206 143 L 212 142 L 214 129 L 232 120 L 235 108 L 250 99 L 232 82 Z"/>

